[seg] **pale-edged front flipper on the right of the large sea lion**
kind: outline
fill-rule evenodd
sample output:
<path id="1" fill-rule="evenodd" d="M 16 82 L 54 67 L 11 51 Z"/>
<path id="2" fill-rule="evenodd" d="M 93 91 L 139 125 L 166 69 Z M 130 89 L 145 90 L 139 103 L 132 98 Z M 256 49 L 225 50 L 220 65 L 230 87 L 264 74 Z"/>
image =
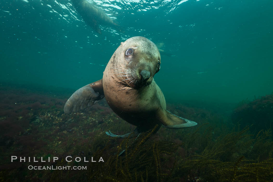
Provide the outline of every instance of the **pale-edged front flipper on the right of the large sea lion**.
<path id="1" fill-rule="evenodd" d="M 162 108 L 158 110 L 157 116 L 162 125 L 170 129 L 188 128 L 197 125 L 194 121 L 176 116 Z"/>

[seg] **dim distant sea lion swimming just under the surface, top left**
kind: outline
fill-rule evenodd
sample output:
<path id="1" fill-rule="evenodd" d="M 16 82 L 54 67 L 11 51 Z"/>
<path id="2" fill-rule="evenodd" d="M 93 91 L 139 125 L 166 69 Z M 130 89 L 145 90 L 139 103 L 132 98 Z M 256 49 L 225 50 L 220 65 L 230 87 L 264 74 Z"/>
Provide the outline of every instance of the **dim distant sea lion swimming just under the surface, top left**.
<path id="1" fill-rule="evenodd" d="M 95 7 L 87 0 L 71 1 L 85 23 L 91 26 L 97 33 L 102 33 L 99 25 L 109 25 L 120 32 L 124 32 L 120 25 L 114 23 L 113 20 L 109 18 L 109 16 L 107 16 L 102 10 Z"/>

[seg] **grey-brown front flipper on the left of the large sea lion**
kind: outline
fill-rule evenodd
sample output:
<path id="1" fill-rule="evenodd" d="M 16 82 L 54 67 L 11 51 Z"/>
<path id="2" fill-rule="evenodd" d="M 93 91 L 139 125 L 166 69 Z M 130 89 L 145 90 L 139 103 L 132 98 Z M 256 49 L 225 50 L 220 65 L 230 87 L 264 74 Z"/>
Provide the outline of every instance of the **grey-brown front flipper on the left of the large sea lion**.
<path id="1" fill-rule="evenodd" d="M 81 87 L 66 101 L 64 113 L 69 114 L 90 107 L 104 98 L 102 79 Z"/>

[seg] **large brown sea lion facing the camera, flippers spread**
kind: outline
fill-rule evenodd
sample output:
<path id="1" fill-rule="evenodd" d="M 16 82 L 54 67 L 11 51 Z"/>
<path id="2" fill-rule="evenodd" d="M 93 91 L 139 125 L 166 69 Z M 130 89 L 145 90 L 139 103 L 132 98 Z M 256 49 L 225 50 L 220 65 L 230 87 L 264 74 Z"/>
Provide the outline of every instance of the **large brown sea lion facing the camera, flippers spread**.
<path id="1" fill-rule="evenodd" d="M 112 55 L 103 78 L 73 93 L 64 112 L 85 109 L 105 96 L 118 116 L 137 126 L 135 134 L 153 129 L 155 125 L 163 124 L 172 129 L 197 125 L 166 110 L 164 95 L 153 79 L 160 64 L 158 48 L 152 41 L 144 37 L 129 38 Z M 122 138 L 129 135 L 114 135 L 110 131 L 106 134 Z"/>

